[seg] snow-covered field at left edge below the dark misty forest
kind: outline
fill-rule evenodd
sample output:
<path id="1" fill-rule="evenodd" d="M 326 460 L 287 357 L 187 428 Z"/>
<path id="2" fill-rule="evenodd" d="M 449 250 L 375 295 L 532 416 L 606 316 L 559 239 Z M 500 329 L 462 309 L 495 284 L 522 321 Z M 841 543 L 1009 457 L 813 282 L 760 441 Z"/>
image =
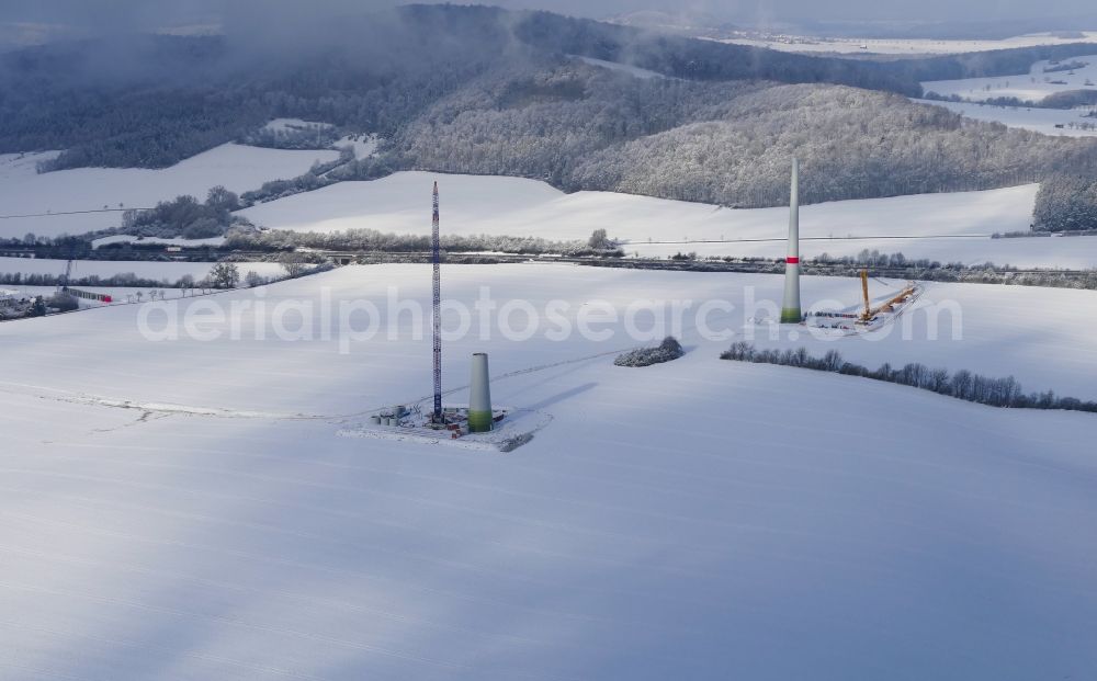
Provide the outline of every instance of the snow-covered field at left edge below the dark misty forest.
<path id="1" fill-rule="evenodd" d="M 44 156 L 0 156 L 0 215 L 68 213 L 106 208 L 148 207 L 190 194 L 204 201 L 211 188 L 234 192 L 259 189 L 268 181 L 293 178 L 317 161 L 330 161 L 338 151 L 286 151 L 223 145 L 165 168 L 80 168 L 45 174 L 35 172 Z M 0 237 L 83 234 L 114 227 L 121 213 L 8 217 L 0 219 Z"/>

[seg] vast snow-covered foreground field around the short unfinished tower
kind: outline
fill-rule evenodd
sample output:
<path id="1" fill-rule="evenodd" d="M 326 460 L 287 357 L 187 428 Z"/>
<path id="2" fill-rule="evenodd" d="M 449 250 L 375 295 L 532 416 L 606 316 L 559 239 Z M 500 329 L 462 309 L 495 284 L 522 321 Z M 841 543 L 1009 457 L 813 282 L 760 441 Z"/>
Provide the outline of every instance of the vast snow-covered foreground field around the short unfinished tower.
<path id="1" fill-rule="evenodd" d="M 443 277 L 448 297 L 488 285 L 568 316 L 780 287 L 562 265 Z M 428 268 L 386 265 L 265 300 L 321 305 L 326 290 L 384 309 L 389 284 L 429 299 Z M 805 302 L 856 285 L 805 280 Z M 1097 322 L 1078 309 L 1095 294 L 928 294 L 958 296 L 969 330 L 929 363 L 1094 396 Z M 595 356 L 633 344 L 620 337 L 454 341 L 446 387 L 484 350 L 497 404 L 553 418 L 488 454 L 337 434 L 429 391 L 429 337 L 409 338 L 406 315 L 396 340 L 340 354 L 320 337 L 148 342 L 138 314 L 0 325 L 4 678 L 1020 680 L 1097 665 L 1093 415 L 722 362 L 725 343 L 688 329 L 686 357 L 645 370 Z"/>

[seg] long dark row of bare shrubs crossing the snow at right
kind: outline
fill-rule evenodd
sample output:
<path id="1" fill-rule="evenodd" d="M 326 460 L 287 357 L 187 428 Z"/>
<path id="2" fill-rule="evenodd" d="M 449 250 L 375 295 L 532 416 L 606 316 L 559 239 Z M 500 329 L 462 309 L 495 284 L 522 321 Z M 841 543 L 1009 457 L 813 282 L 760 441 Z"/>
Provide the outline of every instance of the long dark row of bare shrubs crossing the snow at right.
<path id="1" fill-rule="evenodd" d="M 989 407 L 1013 407 L 1022 409 L 1064 409 L 1068 411 L 1097 412 L 1097 401 L 1083 401 L 1074 397 L 1059 397 L 1051 390 L 1026 395 L 1013 376 L 991 378 L 960 370 L 950 374 L 945 368 L 930 368 L 912 362 L 902 367 L 884 363 L 871 370 L 860 364 L 846 362 L 837 350 L 829 350 L 822 357 L 813 356 L 805 348 L 795 350 L 759 350 L 745 341 L 732 343 L 720 355 L 721 360 L 753 362 L 755 364 L 777 364 L 814 371 L 860 376 L 872 381 L 896 383 L 939 395 L 955 397 L 969 402 Z"/>

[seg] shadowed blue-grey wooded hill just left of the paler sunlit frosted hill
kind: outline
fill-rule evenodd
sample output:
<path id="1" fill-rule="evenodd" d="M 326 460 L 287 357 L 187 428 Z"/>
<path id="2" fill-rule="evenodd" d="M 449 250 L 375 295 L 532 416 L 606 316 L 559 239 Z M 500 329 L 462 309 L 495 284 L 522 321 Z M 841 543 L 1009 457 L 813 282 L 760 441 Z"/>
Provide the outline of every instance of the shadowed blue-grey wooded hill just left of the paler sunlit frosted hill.
<path id="1" fill-rule="evenodd" d="M 579 60 L 512 65 L 428 107 L 395 137 L 393 151 L 418 168 L 518 174 L 578 189 L 574 170 L 591 154 L 722 117 L 742 94 L 768 87 L 636 79 Z"/>

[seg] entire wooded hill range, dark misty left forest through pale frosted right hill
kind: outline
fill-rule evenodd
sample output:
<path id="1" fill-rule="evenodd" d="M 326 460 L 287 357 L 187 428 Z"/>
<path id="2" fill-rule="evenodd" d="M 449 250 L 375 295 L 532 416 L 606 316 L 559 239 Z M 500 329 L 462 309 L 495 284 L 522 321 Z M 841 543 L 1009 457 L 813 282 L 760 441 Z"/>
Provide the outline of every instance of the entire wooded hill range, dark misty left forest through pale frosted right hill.
<path id="1" fill-rule="evenodd" d="M 145 36 L 4 55 L 0 152 L 66 149 L 46 170 L 163 167 L 299 117 L 388 141 L 376 158 L 245 198 L 423 169 L 766 206 L 787 201 L 793 154 L 808 202 L 991 189 L 1093 173 L 1097 141 L 965 121 L 904 95 L 920 94 L 918 79 L 1027 68 L 1075 48 L 874 61 L 409 5 L 331 25 L 292 54 L 230 36 Z"/>

